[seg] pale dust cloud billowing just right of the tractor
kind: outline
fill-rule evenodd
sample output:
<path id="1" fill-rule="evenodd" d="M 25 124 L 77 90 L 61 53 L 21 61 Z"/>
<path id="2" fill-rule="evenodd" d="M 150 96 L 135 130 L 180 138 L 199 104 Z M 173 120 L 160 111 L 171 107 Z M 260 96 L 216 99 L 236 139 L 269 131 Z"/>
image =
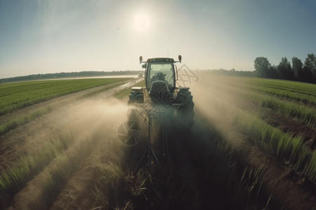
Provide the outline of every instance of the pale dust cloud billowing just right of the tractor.
<path id="1" fill-rule="evenodd" d="M 195 121 L 204 118 L 213 125 L 228 141 L 235 141 L 232 133 L 233 116 L 239 112 L 237 96 L 228 90 L 230 83 L 242 85 L 242 80 L 228 76 L 216 76 L 210 73 L 197 72 L 199 80 L 190 84 L 195 102 Z"/>

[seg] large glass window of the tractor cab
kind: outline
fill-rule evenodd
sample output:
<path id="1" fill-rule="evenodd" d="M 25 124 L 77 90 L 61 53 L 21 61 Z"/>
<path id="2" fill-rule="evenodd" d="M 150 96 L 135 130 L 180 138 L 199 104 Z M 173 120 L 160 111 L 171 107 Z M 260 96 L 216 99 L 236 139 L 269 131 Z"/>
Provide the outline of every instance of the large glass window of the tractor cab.
<path id="1" fill-rule="evenodd" d="M 173 74 L 173 64 L 170 62 L 155 62 L 148 64 L 147 85 L 150 87 L 154 80 L 165 80 L 168 85 L 175 87 L 175 80 Z"/>

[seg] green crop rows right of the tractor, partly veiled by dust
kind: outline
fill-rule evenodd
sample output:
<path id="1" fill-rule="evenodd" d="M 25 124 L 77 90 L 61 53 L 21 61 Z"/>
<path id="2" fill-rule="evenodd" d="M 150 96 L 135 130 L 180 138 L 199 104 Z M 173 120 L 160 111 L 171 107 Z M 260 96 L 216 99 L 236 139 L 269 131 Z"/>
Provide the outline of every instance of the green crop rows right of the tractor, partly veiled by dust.
<path id="1" fill-rule="evenodd" d="M 298 86 L 297 90 L 294 85 Z M 221 112 L 224 119 L 230 118 L 241 132 L 260 141 L 296 169 L 303 169 L 302 172 L 315 183 L 316 156 L 313 139 L 316 106 L 312 104 L 315 85 L 253 78 L 223 78 L 218 83 L 216 78 L 210 80 L 210 86 L 213 93 L 210 95 L 216 97 L 212 99 L 214 106 L 209 108 Z M 249 106 L 243 100 L 249 102 Z M 268 116 L 260 116 L 262 111 L 258 111 L 257 107 L 270 111 L 274 115 L 274 121 L 271 122 L 272 119 Z M 285 123 L 294 121 L 295 127 L 291 127 L 291 124 L 276 126 L 275 123 L 281 123 L 279 118 L 288 119 Z M 294 131 L 298 126 L 308 132 Z M 306 146 L 305 141 L 312 142 Z"/>

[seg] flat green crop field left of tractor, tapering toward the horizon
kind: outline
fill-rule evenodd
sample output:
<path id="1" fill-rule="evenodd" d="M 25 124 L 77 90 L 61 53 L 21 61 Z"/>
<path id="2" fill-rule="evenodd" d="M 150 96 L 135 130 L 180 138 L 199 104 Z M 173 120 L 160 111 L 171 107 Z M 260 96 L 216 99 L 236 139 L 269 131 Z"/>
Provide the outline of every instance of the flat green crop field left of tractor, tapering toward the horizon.
<path id="1" fill-rule="evenodd" d="M 130 78 L 44 80 L 1 84 L 0 116 L 65 94 L 126 80 Z"/>

